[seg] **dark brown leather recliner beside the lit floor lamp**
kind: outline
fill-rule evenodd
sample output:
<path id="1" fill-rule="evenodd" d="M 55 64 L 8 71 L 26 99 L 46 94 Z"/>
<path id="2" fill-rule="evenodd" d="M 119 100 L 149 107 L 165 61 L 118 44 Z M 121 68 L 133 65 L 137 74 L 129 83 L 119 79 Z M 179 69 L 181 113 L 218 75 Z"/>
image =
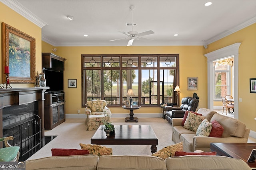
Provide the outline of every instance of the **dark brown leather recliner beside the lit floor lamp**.
<path id="1" fill-rule="evenodd" d="M 185 97 L 181 100 L 180 108 L 172 107 L 172 106 L 165 106 L 166 109 L 166 120 L 172 123 L 172 118 L 175 117 L 184 117 L 185 111 L 196 111 L 198 107 L 199 100 L 192 97 Z"/>

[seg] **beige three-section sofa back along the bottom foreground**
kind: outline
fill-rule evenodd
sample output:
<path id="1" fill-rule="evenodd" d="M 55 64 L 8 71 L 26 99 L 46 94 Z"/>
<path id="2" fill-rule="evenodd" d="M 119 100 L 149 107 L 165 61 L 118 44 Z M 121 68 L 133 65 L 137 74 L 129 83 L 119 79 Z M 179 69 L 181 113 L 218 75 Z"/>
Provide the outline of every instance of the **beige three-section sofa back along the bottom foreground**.
<path id="1" fill-rule="evenodd" d="M 26 161 L 26 170 L 251 170 L 241 159 L 226 156 L 180 156 L 165 160 L 150 155 L 52 156 Z"/>

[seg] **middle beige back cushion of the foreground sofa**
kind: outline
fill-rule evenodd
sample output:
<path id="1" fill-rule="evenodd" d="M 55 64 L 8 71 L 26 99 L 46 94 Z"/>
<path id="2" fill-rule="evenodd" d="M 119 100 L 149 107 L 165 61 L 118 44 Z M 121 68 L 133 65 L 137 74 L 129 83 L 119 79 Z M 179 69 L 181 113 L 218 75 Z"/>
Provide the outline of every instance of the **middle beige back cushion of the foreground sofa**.
<path id="1" fill-rule="evenodd" d="M 166 170 L 166 164 L 164 159 L 150 155 L 104 155 L 97 170 Z"/>

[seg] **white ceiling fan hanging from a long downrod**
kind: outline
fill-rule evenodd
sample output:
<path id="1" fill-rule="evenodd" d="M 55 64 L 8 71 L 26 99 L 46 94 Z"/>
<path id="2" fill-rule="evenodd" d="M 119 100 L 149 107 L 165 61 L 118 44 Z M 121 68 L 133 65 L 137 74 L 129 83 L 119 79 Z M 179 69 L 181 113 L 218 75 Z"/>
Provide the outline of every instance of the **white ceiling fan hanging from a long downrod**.
<path id="1" fill-rule="evenodd" d="M 130 10 L 133 11 L 134 10 L 134 6 L 130 6 Z M 128 39 L 128 38 L 130 38 L 130 40 L 128 41 L 127 46 L 132 45 L 134 39 L 139 39 L 139 38 L 149 39 L 149 38 L 145 38 L 145 37 L 142 37 L 142 36 L 150 35 L 150 34 L 154 33 L 154 31 L 152 31 L 152 30 L 145 31 L 145 32 L 142 32 L 142 33 L 138 33 L 137 31 L 133 31 L 133 16 L 132 16 L 132 31 L 129 31 L 128 33 L 124 32 L 124 31 L 119 31 L 119 32 L 128 36 L 126 38 L 120 38 L 120 39 Z M 113 40 L 109 40 L 109 41 L 116 41 L 116 40 L 120 40 L 120 39 L 113 39 Z M 150 39 L 150 40 L 153 40 L 153 39 Z"/>

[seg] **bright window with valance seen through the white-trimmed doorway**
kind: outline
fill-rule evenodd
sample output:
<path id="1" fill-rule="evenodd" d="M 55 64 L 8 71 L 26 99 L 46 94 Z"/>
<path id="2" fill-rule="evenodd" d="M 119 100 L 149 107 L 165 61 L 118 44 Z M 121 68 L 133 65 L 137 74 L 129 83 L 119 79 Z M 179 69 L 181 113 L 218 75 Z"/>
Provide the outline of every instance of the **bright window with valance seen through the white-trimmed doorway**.
<path id="1" fill-rule="evenodd" d="M 214 100 L 221 100 L 221 96 L 231 94 L 231 68 L 233 64 L 233 57 L 214 62 L 214 82 L 215 82 L 215 96 Z"/>

